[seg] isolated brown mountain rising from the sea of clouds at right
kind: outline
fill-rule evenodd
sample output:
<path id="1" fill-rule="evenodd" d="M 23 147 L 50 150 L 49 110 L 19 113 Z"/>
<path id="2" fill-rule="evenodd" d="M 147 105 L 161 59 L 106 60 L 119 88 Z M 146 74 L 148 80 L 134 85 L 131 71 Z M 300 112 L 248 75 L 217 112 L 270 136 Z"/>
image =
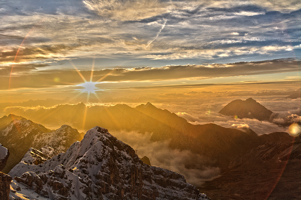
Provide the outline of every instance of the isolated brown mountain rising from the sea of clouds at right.
<path id="1" fill-rule="evenodd" d="M 223 109 L 221 109 L 219 113 L 237 118 L 250 118 L 258 119 L 260 121 L 269 121 L 273 112 L 256 102 L 256 100 L 249 98 L 244 101 L 240 99 L 231 101 Z"/>

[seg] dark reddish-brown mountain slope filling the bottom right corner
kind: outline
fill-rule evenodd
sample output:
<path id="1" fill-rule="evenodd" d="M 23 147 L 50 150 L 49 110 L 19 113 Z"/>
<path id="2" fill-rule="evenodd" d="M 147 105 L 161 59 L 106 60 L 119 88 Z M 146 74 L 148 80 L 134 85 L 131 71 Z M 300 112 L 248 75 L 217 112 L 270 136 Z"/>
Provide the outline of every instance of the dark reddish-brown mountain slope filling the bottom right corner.
<path id="1" fill-rule="evenodd" d="M 276 132 L 234 157 L 222 176 L 198 189 L 212 199 L 301 199 L 301 138 Z"/>

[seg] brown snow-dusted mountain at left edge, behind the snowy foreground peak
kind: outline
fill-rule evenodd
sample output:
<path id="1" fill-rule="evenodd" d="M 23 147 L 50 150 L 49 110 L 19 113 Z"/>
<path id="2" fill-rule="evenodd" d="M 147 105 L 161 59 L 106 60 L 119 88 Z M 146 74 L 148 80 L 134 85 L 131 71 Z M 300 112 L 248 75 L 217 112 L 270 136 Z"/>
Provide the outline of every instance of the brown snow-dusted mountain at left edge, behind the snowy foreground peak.
<path id="1" fill-rule="evenodd" d="M 15 119 L 14 119 L 15 118 Z M 0 141 L 8 148 L 10 156 L 3 172 L 8 173 L 20 162 L 29 148 L 50 146 L 58 153 L 66 151 L 73 142 L 81 140 L 80 133 L 68 125 L 49 130 L 25 118 L 9 115 L 0 118 Z M 14 120 L 12 120 L 14 119 Z M 9 122 L 8 122 L 9 121 Z"/>

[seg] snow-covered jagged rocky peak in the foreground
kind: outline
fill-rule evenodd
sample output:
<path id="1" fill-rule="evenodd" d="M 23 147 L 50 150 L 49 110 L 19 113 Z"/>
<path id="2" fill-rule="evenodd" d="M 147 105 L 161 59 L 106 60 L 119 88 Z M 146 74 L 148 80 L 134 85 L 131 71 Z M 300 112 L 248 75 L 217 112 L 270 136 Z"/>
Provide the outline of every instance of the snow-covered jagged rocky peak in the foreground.
<path id="1" fill-rule="evenodd" d="M 33 163 L 34 164 L 34 163 Z M 183 175 L 144 164 L 135 151 L 94 127 L 66 153 L 11 170 L 11 199 L 209 199 Z"/>

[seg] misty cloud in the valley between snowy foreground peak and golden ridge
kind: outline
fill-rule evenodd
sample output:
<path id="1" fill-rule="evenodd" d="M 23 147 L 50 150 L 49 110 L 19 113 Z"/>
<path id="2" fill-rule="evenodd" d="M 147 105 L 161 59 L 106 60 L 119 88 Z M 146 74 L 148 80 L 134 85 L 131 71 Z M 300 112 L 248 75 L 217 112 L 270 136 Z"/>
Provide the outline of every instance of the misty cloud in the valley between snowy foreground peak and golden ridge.
<path id="1" fill-rule="evenodd" d="M 162 167 L 184 175 L 186 181 L 201 186 L 205 181 L 213 180 L 220 175 L 220 169 L 214 161 L 208 160 L 190 151 L 179 151 L 168 148 L 169 141 L 151 142 L 151 133 L 110 131 L 117 139 L 130 145 L 140 158 L 147 156 L 151 165 Z"/>

